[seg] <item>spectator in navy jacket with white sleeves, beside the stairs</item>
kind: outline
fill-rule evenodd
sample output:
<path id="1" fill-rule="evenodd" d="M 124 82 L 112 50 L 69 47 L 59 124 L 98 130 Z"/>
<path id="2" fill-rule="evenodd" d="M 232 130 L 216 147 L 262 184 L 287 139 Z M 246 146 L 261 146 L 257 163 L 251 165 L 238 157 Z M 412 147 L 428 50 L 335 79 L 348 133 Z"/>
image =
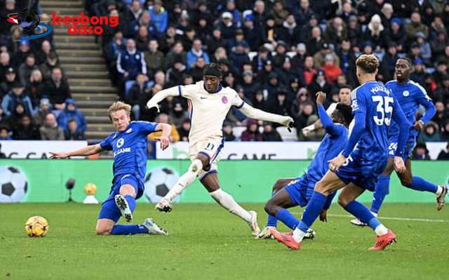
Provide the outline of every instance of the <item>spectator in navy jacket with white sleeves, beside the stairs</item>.
<path id="1" fill-rule="evenodd" d="M 138 73 L 147 74 L 147 63 L 141 51 L 135 48 L 135 41 L 126 41 L 126 50 L 119 53 L 117 57 L 117 71 L 119 72 L 119 84 L 134 80 Z"/>

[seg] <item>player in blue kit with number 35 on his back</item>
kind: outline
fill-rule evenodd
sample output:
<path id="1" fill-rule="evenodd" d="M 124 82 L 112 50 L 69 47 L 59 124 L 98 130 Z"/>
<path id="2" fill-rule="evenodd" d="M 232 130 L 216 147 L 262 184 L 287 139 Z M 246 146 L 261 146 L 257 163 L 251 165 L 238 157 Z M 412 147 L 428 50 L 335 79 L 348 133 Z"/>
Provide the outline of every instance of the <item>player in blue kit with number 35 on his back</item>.
<path id="1" fill-rule="evenodd" d="M 272 229 L 279 242 L 297 250 L 307 229 L 318 218 L 328 196 L 342 189 L 338 203 L 349 213 L 368 224 L 377 235 L 370 250 L 383 250 L 396 241 L 396 234 L 387 229 L 366 206 L 355 199 L 368 189 L 374 191 L 377 178 L 387 164 L 387 128 L 391 118 L 399 125 L 398 147 L 394 156 L 396 171 L 405 171 L 402 154 L 410 124 L 397 100 L 387 88 L 375 81 L 379 60 L 374 55 L 361 55 L 356 60 L 356 75 L 361 86 L 351 93 L 355 125 L 342 154 L 329 161 L 329 171 L 316 183 L 314 194 L 293 233 Z M 355 147 L 355 148 L 354 148 Z"/>

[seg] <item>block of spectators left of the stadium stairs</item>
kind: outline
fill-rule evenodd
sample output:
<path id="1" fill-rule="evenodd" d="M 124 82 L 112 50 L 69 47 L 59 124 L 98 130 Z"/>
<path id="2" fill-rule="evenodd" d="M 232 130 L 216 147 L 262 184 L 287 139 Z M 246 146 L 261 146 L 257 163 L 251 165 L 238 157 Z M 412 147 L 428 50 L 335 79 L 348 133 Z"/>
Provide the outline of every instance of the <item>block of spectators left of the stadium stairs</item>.
<path id="1" fill-rule="evenodd" d="M 86 118 L 71 98 L 53 36 L 20 40 L 20 27 L 6 21 L 27 2 L 0 4 L 0 140 L 83 140 Z"/>

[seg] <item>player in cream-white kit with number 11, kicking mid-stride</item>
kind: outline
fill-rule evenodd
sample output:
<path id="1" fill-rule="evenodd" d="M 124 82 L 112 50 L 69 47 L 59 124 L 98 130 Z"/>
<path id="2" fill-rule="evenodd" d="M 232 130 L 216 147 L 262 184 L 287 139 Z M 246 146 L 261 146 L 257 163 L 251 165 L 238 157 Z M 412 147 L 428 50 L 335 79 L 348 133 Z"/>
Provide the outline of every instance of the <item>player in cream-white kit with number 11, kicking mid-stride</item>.
<path id="1" fill-rule="evenodd" d="M 171 211 L 170 201 L 198 177 L 218 204 L 248 222 L 253 235 L 257 235 L 260 232 L 257 225 L 257 213 L 243 209 L 230 194 L 220 188 L 218 182 L 217 162 L 220 160 L 225 143 L 222 136 L 223 121 L 225 121 L 231 106 L 236 106 L 251 119 L 274 121 L 288 128 L 293 125 L 293 119 L 290 116 L 269 114 L 251 107 L 241 100 L 234 89 L 223 88 L 220 81 L 222 81 L 221 67 L 210 63 L 204 67 L 203 81 L 187 86 L 167 88 L 156 93 L 148 101 L 148 108 L 159 109 L 157 104 L 168 96 L 187 98 L 192 123 L 189 132 L 189 156 L 192 164 L 175 186 L 170 189 L 170 192 L 156 204 L 156 209 L 164 212 Z"/>

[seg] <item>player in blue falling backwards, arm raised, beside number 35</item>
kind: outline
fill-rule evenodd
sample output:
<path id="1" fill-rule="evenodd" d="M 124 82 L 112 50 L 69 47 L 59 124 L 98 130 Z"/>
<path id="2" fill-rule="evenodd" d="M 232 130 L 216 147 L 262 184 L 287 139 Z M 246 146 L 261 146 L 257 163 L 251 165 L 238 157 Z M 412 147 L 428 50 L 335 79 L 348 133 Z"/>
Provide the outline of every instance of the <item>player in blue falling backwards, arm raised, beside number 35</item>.
<path id="1" fill-rule="evenodd" d="M 337 104 L 335 109 L 333 109 L 332 119 L 330 119 L 323 107 L 324 100 L 326 100 L 326 93 L 316 93 L 316 105 L 318 105 L 320 124 L 326 129 L 326 135 L 321 141 L 309 168 L 307 168 L 307 173 L 296 179 L 281 179 L 276 182 L 276 185 L 279 185 L 279 187 L 285 187 L 276 192 L 265 205 L 265 211 L 267 211 L 269 216 L 267 226 L 257 236 L 259 239 L 266 239 L 272 236 L 270 231 L 271 229 L 276 229 L 277 220 L 281 220 L 292 230 L 297 227 L 299 221 L 296 218 L 291 219 L 292 215 L 286 208 L 298 205 L 304 207 L 307 205 L 314 192 L 316 182 L 321 180 L 328 171 L 328 161 L 340 154 L 347 143 L 347 127 L 352 121 L 351 107 L 343 103 Z M 327 211 L 334 196 L 335 192 L 329 194 L 326 199 L 326 204 L 320 213 L 322 222 L 327 222 Z M 312 234 L 314 232 L 309 229 L 304 238 Z"/>

